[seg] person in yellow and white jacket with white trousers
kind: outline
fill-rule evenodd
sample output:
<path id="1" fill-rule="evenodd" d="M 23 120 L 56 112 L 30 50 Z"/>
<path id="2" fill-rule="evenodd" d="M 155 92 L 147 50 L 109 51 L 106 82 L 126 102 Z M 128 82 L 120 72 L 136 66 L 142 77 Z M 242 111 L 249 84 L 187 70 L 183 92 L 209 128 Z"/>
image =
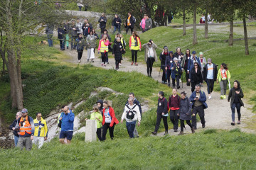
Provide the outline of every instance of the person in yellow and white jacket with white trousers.
<path id="1" fill-rule="evenodd" d="M 33 120 L 35 124 L 35 134 L 33 142 L 40 149 L 43 146 L 43 142 L 47 140 L 48 128 L 46 120 L 42 118 L 42 113 L 36 113 L 36 119 Z"/>

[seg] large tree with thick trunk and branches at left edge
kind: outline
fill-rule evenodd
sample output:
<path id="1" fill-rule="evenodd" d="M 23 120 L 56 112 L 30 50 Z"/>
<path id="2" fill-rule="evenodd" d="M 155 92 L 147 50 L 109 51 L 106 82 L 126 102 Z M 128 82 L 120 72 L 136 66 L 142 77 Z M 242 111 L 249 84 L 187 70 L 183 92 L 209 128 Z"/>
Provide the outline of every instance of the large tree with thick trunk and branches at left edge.
<path id="1" fill-rule="evenodd" d="M 58 1 L 60 2 L 60 1 Z M 55 1 L 33 0 L 0 0 L 0 51 L 3 63 L 6 64 L 10 78 L 12 108 L 23 108 L 21 82 L 22 38 L 24 33 L 38 26 L 39 23 L 65 18 L 63 11 L 55 10 Z M 5 38 L 3 38 L 4 33 Z M 7 58 L 5 57 L 7 54 Z M 6 60 L 7 59 L 7 60 Z"/>

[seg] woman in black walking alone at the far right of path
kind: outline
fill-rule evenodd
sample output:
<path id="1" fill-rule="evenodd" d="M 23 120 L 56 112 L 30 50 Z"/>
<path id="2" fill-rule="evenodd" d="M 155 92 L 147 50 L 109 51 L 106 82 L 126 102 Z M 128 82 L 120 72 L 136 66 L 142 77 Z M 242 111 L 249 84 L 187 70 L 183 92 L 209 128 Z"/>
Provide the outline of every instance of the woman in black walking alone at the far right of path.
<path id="1" fill-rule="evenodd" d="M 243 98 L 243 93 L 242 89 L 240 88 L 240 83 L 238 80 L 234 81 L 234 87 L 230 90 L 230 93 L 228 94 L 228 102 L 230 102 L 231 106 L 231 111 L 232 111 L 232 123 L 231 125 L 235 125 L 235 108 L 237 109 L 238 112 L 238 124 L 241 123 L 241 113 L 240 113 L 240 108 L 241 106 L 244 106 L 244 103 L 242 103 Z"/>

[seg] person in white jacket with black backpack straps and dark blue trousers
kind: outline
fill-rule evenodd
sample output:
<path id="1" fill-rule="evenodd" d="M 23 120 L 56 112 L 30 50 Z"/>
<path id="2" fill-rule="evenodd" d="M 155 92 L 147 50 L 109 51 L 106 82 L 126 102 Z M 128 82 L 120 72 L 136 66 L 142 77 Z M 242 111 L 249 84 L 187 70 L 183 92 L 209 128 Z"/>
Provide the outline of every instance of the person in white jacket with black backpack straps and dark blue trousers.
<path id="1" fill-rule="evenodd" d="M 124 113 L 122 114 L 121 123 L 126 120 L 127 131 L 130 138 L 134 138 L 134 128 L 138 120 L 138 126 L 141 122 L 141 115 L 139 106 L 134 104 L 134 98 L 128 98 L 128 104 L 124 106 Z"/>

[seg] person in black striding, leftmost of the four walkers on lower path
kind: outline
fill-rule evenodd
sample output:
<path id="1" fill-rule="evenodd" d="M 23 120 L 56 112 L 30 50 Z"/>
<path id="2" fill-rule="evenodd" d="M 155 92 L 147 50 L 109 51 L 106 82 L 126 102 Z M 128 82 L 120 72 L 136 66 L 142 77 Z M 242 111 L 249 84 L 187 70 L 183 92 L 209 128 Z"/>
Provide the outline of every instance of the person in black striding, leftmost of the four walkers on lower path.
<path id="1" fill-rule="evenodd" d="M 165 128 L 165 133 L 164 135 L 168 134 L 168 124 L 167 124 L 167 117 L 168 117 L 168 110 L 167 110 L 167 105 L 168 101 L 166 98 L 164 98 L 164 91 L 159 91 L 159 99 L 157 103 L 157 111 L 156 111 L 156 127 L 154 132 L 152 132 L 153 135 L 157 134 L 157 130 L 159 130 L 159 125 L 161 122 L 161 119 L 164 121 L 164 128 Z"/>

